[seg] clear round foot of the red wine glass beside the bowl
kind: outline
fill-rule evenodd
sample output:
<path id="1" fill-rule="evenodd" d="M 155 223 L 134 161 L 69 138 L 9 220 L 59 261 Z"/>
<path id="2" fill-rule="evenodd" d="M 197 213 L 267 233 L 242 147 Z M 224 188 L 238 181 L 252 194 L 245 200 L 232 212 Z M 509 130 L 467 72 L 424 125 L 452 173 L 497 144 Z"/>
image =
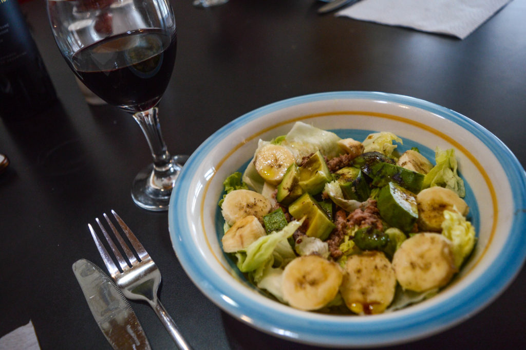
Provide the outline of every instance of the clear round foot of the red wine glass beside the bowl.
<path id="1" fill-rule="evenodd" d="M 135 177 L 131 185 L 131 198 L 134 203 L 149 211 L 163 212 L 168 210 L 170 203 L 171 189 L 179 176 L 179 172 L 188 159 L 187 155 L 176 155 L 171 157 L 173 166 L 169 175 L 164 179 L 168 185 L 158 186 L 154 179 L 153 164 L 141 170 Z"/>

